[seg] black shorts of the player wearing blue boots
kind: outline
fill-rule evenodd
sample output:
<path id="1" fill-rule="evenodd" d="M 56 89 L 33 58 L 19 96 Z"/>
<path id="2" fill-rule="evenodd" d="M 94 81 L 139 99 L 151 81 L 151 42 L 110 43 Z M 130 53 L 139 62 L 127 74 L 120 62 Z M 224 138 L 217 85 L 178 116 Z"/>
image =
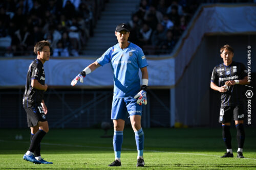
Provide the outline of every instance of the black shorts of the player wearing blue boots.
<path id="1" fill-rule="evenodd" d="M 47 121 L 44 110 L 41 106 L 26 108 L 28 127 L 34 127 L 38 122 Z"/>

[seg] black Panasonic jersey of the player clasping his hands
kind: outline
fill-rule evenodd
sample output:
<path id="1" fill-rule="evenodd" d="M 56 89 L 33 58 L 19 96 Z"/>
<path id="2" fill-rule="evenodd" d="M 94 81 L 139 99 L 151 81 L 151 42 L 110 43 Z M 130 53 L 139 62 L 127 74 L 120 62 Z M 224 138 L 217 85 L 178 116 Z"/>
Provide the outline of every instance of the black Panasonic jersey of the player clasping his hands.
<path id="1" fill-rule="evenodd" d="M 214 71 L 211 74 L 211 82 L 221 87 L 225 85 L 226 81 L 244 79 L 247 76 L 246 71 L 242 63 L 233 61 L 229 66 L 222 63 L 214 67 Z M 242 94 L 241 85 L 230 86 L 226 92 L 221 93 L 221 106 L 240 105 L 243 101 L 242 96 L 244 94 Z"/>

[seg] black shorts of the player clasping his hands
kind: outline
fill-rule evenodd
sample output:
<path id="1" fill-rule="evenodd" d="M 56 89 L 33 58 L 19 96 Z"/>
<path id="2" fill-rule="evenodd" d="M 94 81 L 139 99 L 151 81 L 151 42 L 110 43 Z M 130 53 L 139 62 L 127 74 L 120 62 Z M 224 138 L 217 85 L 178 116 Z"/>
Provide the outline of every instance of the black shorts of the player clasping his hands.
<path id="1" fill-rule="evenodd" d="M 243 120 L 243 106 L 221 106 L 219 123 L 230 123 L 233 120 Z"/>

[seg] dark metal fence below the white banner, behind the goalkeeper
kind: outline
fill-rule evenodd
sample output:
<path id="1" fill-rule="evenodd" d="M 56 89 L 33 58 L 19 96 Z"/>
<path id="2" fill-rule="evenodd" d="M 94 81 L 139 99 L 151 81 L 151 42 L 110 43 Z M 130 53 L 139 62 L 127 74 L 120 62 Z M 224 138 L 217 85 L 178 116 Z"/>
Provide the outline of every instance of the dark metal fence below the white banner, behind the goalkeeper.
<path id="1" fill-rule="evenodd" d="M 24 89 L 0 91 L 0 128 L 26 128 L 27 117 L 22 106 Z M 169 127 L 169 89 L 150 90 L 143 106 L 142 127 Z M 113 89 L 49 89 L 44 101 L 48 107 L 50 128 L 97 128 L 110 122 Z M 127 113 L 128 116 L 128 113 Z M 126 124 L 130 124 L 127 119 Z"/>

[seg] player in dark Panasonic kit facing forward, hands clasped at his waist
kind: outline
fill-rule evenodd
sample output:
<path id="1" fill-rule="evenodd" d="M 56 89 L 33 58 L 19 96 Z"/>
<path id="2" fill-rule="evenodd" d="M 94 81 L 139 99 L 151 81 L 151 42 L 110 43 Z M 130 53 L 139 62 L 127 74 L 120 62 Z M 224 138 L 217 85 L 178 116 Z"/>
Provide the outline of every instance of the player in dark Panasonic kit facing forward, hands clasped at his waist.
<path id="1" fill-rule="evenodd" d="M 233 157 L 231 147 L 230 122 L 233 117 L 237 128 L 238 158 L 244 158 L 243 146 L 245 140 L 244 113 L 241 96 L 241 85 L 249 84 L 247 70 L 242 63 L 232 61 L 233 48 L 230 45 L 221 47 L 223 63 L 214 67 L 210 87 L 221 92 L 221 110 L 219 122 L 222 123 L 222 137 L 227 152 L 222 158 Z"/>

